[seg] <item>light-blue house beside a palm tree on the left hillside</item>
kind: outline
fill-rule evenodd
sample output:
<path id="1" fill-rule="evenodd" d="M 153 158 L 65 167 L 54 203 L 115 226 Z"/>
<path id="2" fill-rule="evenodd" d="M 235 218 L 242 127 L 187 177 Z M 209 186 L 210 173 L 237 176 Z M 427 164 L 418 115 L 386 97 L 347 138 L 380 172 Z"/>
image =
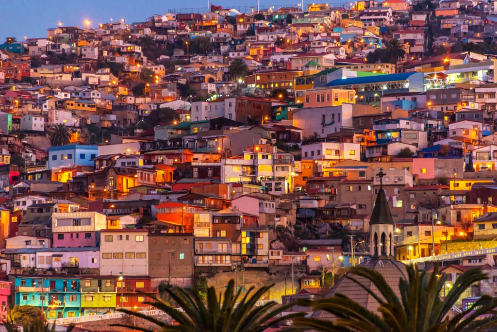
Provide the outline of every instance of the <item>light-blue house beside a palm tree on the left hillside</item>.
<path id="1" fill-rule="evenodd" d="M 47 168 L 57 168 L 61 166 L 81 165 L 93 166 L 91 160 L 98 155 L 96 145 L 83 145 L 79 143 L 62 145 L 48 148 Z"/>

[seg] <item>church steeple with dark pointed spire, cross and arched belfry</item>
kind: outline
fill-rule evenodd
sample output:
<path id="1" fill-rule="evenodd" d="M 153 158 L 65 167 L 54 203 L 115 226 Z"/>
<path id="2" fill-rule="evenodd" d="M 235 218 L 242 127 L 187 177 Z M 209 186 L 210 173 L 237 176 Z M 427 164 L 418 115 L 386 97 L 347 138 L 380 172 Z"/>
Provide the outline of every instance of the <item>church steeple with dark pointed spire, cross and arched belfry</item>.
<path id="1" fill-rule="evenodd" d="M 369 252 L 371 258 L 393 256 L 394 254 L 394 221 L 388 206 L 387 196 L 383 191 L 383 168 L 376 174 L 380 177 L 380 190 L 369 221 Z"/>

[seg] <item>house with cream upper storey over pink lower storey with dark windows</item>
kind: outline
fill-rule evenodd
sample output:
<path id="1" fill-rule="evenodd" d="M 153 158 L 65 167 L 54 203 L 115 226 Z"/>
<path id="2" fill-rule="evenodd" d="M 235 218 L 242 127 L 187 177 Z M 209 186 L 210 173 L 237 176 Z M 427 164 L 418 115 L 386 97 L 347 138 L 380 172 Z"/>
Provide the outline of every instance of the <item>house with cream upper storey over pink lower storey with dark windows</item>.
<path id="1" fill-rule="evenodd" d="M 97 232 L 106 228 L 106 217 L 94 211 L 54 213 L 54 248 L 98 247 Z"/>

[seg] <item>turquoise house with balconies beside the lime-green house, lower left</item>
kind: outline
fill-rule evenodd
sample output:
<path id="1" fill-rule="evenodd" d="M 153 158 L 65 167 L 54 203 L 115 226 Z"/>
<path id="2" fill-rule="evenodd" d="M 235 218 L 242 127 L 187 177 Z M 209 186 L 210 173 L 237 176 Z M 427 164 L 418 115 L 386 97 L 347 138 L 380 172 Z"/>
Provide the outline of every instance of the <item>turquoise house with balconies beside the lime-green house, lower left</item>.
<path id="1" fill-rule="evenodd" d="M 43 310 L 48 319 L 79 317 L 80 278 L 48 275 L 16 275 L 15 304 Z"/>

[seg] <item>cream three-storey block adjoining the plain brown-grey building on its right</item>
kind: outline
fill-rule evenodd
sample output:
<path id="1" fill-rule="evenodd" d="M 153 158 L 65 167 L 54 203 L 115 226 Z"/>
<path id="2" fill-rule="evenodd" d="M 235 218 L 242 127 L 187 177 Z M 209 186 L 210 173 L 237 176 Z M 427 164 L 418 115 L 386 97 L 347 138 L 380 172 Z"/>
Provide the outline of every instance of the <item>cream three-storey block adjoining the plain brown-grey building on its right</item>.
<path id="1" fill-rule="evenodd" d="M 101 230 L 100 275 L 148 275 L 148 231 Z"/>

